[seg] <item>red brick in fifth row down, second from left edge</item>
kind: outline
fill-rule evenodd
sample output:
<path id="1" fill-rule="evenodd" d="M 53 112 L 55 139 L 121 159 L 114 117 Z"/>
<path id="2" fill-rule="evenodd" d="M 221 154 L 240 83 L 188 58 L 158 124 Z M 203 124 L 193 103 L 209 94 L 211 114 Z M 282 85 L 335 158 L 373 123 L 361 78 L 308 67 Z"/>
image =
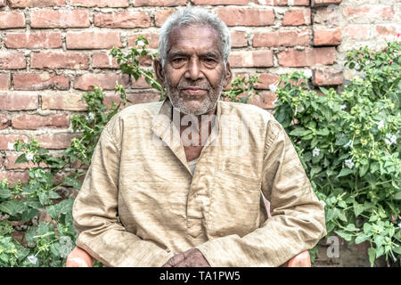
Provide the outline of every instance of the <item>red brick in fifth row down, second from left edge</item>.
<path id="1" fill-rule="evenodd" d="M 16 73 L 12 75 L 15 90 L 45 90 L 70 88 L 70 79 L 53 73 Z"/>

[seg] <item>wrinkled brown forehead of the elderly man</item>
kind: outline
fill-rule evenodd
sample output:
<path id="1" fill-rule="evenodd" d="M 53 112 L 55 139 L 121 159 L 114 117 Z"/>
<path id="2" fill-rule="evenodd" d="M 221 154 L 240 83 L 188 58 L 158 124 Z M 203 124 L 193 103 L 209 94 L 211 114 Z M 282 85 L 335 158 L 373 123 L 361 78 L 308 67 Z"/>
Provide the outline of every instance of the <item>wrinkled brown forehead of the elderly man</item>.
<path id="1" fill-rule="evenodd" d="M 191 25 L 173 28 L 169 33 L 170 49 L 168 53 L 183 52 L 184 50 L 198 53 L 218 53 L 221 38 L 214 28 L 201 25 Z"/>

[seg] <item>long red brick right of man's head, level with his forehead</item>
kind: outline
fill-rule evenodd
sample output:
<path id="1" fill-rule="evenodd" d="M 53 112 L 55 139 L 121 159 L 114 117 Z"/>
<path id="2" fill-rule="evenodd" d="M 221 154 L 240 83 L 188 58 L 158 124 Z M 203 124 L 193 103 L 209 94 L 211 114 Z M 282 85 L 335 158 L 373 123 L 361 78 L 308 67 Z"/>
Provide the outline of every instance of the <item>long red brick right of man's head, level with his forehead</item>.
<path id="1" fill-rule="evenodd" d="M 270 33 L 255 33 L 253 46 L 309 45 L 309 40 L 309 32 L 307 29 L 302 31 L 282 30 Z"/>

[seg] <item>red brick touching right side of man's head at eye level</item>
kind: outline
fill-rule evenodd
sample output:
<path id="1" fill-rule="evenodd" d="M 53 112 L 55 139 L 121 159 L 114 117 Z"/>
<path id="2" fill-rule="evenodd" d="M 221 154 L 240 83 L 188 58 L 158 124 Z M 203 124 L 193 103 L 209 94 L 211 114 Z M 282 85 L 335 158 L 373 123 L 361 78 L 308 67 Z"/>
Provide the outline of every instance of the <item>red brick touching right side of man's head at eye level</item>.
<path id="1" fill-rule="evenodd" d="M 232 68 L 272 67 L 272 51 L 234 52 L 228 61 Z"/>

